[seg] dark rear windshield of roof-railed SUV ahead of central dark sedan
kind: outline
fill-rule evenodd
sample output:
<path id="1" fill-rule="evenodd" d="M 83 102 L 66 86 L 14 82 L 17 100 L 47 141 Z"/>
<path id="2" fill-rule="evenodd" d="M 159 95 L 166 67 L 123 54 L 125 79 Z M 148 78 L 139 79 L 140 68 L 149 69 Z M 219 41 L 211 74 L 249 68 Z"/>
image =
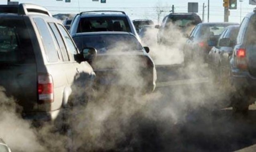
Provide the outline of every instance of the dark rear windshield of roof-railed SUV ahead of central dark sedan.
<path id="1" fill-rule="evenodd" d="M 80 19 L 77 33 L 96 31 L 131 32 L 126 17 L 84 17 Z"/>

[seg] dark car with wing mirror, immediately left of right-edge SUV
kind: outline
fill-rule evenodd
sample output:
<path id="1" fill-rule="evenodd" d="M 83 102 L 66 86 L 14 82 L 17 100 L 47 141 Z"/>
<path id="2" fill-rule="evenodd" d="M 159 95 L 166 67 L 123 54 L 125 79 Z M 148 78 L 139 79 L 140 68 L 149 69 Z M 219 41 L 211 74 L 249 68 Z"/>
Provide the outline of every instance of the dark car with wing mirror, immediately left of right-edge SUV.
<path id="1" fill-rule="evenodd" d="M 224 29 L 218 43 L 209 52 L 208 64 L 220 85 L 227 85 L 229 77 L 229 62 L 236 44 L 239 25 L 230 25 Z"/>

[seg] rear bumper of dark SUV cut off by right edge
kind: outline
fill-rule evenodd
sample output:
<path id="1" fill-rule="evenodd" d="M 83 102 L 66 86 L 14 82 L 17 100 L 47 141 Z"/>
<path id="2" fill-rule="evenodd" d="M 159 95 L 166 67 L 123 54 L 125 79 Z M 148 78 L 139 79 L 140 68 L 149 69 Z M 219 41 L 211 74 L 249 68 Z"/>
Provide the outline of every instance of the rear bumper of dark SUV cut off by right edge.
<path id="1" fill-rule="evenodd" d="M 232 69 L 232 84 L 236 90 L 243 91 L 246 95 L 256 97 L 256 77 L 248 71 Z"/>

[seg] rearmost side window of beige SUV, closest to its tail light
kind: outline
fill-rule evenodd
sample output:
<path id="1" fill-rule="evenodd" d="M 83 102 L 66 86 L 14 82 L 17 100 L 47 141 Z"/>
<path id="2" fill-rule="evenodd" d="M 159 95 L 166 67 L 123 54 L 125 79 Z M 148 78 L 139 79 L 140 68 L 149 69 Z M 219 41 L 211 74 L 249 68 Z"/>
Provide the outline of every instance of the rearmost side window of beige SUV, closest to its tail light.
<path id="1" fill-rule="evenodd" d="M 52 47 L 54 46 L 54 42 L 47 24 L 44 22 L 42 18 L 39 17 L 34 18 L 34 21 L 40 33 L 40 37 L 44 45 L 44 51 L 47 56 L 47 60 L 49 62 L 57 62 L 59 60 L 59 57 L 57 54 L 57 50 L 54 47 Z"/>

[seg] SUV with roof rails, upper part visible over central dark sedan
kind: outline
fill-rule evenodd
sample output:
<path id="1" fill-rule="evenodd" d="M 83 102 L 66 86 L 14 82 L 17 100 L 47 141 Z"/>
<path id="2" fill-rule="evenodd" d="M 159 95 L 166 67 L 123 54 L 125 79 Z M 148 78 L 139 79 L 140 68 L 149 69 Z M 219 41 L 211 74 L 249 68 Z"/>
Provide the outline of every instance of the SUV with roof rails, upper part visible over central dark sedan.
<path id="1" fill-rule="evenodd" d="M 140 41 L 136 29 L 124 11 L 85 11 L 77 14 L 70 27 L 70 34 L 99 31 L 124 31 L 134 34 Z"/>

